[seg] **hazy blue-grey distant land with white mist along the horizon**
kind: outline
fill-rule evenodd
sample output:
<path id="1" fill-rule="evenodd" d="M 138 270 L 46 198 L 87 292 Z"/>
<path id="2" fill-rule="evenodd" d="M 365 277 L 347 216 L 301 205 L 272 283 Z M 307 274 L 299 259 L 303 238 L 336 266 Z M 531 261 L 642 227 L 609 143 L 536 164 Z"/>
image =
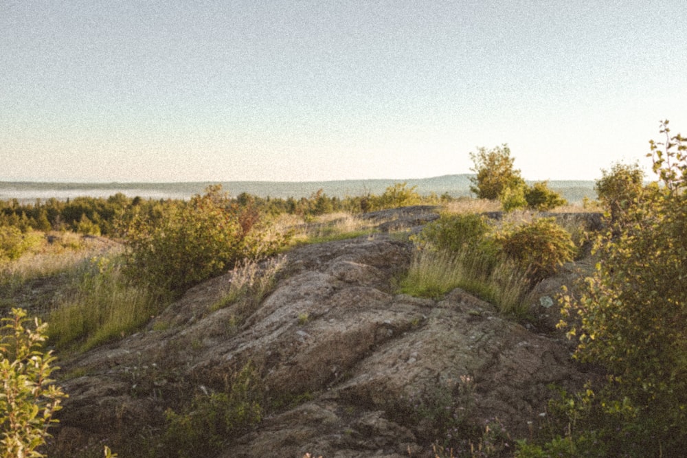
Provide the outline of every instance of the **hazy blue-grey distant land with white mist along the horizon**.
<path id="1" fill-rule="evenodd" d="M 309 197 L 322 189 L 331 197 L 381 194 L 394 183 L 417 186 L 422 195 L 432 192 L 438 195 L 448 193 L 452 197 L 470 196 L 469 174 L 436 176 L 427 179 L 407 180 L 340 180 L 340 181 L 225 181 L 206 183 L 43 183 L 43 182 L 0 182 L 0 201 L 16 198 L 21 203 L 33 203 L 36 199 L 45 201 L 57 198 L 60 201 L 78 196 L 106 198 L 117 193 L 128 197 L 139 196 L 152 199 L 188 199 L 194 194 L 203 194 L 208 185 L 221 184 L 230 195 L 243 192 L 260 197 L 301 198 Z M 584 197 L 596 198 L 594 181 L 550 181 L 549 186 L 560 192 L 571 203 L 579 203 Z"/>

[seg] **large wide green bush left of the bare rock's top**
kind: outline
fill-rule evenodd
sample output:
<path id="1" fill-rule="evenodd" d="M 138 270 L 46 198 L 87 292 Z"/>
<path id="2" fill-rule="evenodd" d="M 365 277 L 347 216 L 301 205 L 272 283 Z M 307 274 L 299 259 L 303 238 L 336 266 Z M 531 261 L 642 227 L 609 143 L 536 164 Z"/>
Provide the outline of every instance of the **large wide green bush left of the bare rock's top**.
<path id="1" fill-rule="evenodd" d="M 257 211 L 238 207 L 221 186 L 159 211 L 135 216 L 124 229 L 129 275 L 158 292 L 183 293 L 246 257 L 270 255 L 285 243 L 283 236 L 260 226 Z"/>

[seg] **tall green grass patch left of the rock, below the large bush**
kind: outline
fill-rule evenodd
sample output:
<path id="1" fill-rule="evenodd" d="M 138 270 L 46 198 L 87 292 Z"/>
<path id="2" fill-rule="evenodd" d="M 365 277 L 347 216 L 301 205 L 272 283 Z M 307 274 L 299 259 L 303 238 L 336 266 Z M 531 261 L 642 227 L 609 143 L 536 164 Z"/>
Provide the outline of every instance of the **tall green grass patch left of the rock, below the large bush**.
<path id="1" fill-rule="evenodd" d="M 89 350 L 130 334 L 158 311 L 148 290 L 124 277 L 117 257 L 84 262 L 70 289 L 47 318 L 49 340 L 58 349 Z"/>

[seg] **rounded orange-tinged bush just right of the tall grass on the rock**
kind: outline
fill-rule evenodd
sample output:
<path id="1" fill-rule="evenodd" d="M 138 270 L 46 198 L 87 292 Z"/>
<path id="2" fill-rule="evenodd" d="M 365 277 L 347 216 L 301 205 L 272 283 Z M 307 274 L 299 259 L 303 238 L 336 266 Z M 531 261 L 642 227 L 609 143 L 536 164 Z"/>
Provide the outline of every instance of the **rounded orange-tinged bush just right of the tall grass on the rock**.
<path id="1" fill-rule="evenodd" d="M 574 259 L 576 248 L 570 233 L 555 218 L 538 218 L 515 227 L 504 227 L 496 236 L 504 254 L 527 272 L 532 284 L 556 273 Z"/>

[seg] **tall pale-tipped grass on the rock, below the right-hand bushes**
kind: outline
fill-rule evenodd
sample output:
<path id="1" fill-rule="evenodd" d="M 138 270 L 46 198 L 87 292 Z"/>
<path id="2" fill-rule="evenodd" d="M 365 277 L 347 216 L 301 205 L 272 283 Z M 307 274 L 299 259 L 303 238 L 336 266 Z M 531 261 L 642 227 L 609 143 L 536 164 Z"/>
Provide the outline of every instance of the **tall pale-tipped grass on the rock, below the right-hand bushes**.
<path id="1" fill-rule="evenodd" d="M 454 288 L 462 288 L 495 304 L 506 314 L 523 314 L 530 282 L 525 272 L 507 260 L 493 266 L 491 256 L 479 250 L 457 253 L 423 249 L 401 280 L 401 293 L 440 299 Z"/>

